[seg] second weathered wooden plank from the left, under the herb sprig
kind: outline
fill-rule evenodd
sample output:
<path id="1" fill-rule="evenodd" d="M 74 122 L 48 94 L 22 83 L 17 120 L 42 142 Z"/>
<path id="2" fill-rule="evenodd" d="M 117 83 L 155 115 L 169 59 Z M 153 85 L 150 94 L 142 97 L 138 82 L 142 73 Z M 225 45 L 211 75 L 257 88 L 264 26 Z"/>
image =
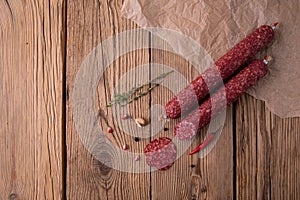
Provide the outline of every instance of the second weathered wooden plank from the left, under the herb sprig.
<path id="1" fill-rule="evenodd" d="M 68 2 L 67 85 L 70 93 L 67 102 L 68 199 L 150 199 L 150 174 L 135 174 L 135 171 L 121 172 L 111 169 L 93 158 L 80 141 L 72 113 L 74 81 L 80 65 L 88 53 L 100 42 L 114 34 L 136 28 L 133 22 L 120 16 L 121 3 L 117 0 L 85 2 L 72 0 Z M 134 40 L 126 42 L 137 41 L 140 36 L 137 32 Z M 148 41 L 147 37 L 142 39 Z M 118 40 L 114 40 L 114 42 L 116 52 L 122 50 L 125 45 Z M 139 71 L 134 73 L 134 76 L 127 77 L 126 84 L 121 85 L 115 91 L 115 87 L 123 75 L 126 75 L 137 65 L 149 61 L 148 54 L 148 49 L 146 49 L 128 53 L 116 59 L 101 77 L 93 99 L 95 101 L 94 112 L 97 113 L 101 110 L 98 123 L 104 133 L 106 134 L 108 126 L 114 129 L 114 133 L 107 136 L 110 141 L 117 147 L 126 143 L 129 146 L 129 151 L 133 152 L 142 151 L 149 139 L 145 138 L 135 142 L 133 136 L 125 133 L 118 124 L 118 117 L 125 113 L 122 110 L 113 112 L 112 108 L 106 108 L 106 104 L 115 92 L 126 91 L 144 79 L 148 80 L 149 71 Z M 86 89 L 89 90 L 90 88 Z M 149 101 L 149 97 L 146 96 L 131 104 L 129 114 L 133 117 L 149 119 Z M 129 127 L 131 134 L 134 131 L 138 131 L 136 127 Z M 110 157 L 109 159 L 113 158 Z M 128 160 L 128 163 L 130 162 L 136 161 Z M 128 163 L 124 164 L 127 165 Z"/>

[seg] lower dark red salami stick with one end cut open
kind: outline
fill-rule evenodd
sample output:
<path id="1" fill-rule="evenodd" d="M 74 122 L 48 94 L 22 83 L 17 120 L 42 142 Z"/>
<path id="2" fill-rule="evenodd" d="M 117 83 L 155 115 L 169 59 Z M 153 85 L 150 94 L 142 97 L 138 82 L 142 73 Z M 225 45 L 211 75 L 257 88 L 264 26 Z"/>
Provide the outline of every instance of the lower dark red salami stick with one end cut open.
<path id="1" fill-rule="evenodd" d="M 226 104 L 228 106 L 231 105 L 239 96 L 268 73 L 267 64 L 269 60 L 270 57 L 266 57 L 263 61 L 252 61 L 246 68 L 230 79 L 223 88 L 214 93 L 211 98 L 204 101 L 195 111 L 181 120 L 175 126 L 174 135 L 180 140 L 190 139 L 195 136 L 202 127 L 209 124 L 212 118 L 226 108 Z"/>

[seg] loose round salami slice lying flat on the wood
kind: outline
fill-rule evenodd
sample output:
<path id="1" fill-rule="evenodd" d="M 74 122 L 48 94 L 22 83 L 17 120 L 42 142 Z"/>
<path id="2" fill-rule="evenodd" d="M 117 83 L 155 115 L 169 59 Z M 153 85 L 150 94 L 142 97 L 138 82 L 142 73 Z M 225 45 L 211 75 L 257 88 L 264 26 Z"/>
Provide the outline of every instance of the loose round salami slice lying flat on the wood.
<path id="1" fill-rule="evenodd" d="M 170 138 L 160 137 L 147 144 L 144 153 L 149 166 L 167 170 L 173 165 L 177 150 Z"/>

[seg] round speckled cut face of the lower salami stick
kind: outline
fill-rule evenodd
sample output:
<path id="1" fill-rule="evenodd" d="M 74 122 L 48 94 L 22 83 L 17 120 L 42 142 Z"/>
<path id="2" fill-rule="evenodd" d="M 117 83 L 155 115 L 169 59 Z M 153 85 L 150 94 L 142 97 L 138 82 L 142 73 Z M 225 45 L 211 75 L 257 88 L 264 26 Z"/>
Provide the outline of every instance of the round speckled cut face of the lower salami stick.
<path id="1" fill-rule="evenodd" d="M 181 123 L 178 123 L 174 129 L 174 135 L 179 140 L 191 139 L 197 134 L 197 132 L 196 125 L 188 120 L 182 120 Z"/>

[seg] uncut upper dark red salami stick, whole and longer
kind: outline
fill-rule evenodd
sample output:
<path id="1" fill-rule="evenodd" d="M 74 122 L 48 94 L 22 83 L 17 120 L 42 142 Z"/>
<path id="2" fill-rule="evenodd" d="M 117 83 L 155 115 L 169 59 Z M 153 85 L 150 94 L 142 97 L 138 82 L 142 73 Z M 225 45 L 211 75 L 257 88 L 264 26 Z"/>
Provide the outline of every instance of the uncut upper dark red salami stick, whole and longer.
<path id="1" fill-rule="evenodd" d="M 167 116 L 176 119 L 197 106 L 198 102 L 208 95 L 209 89 L 217 88 L 222 79 L 231 76 L 247 60 L 255 56 L 273 40 L 274 29 L 277 24 L 259 27 L 229 50 L 215 65 L 204 71 L 167 103 L 165 107 Z"/>

